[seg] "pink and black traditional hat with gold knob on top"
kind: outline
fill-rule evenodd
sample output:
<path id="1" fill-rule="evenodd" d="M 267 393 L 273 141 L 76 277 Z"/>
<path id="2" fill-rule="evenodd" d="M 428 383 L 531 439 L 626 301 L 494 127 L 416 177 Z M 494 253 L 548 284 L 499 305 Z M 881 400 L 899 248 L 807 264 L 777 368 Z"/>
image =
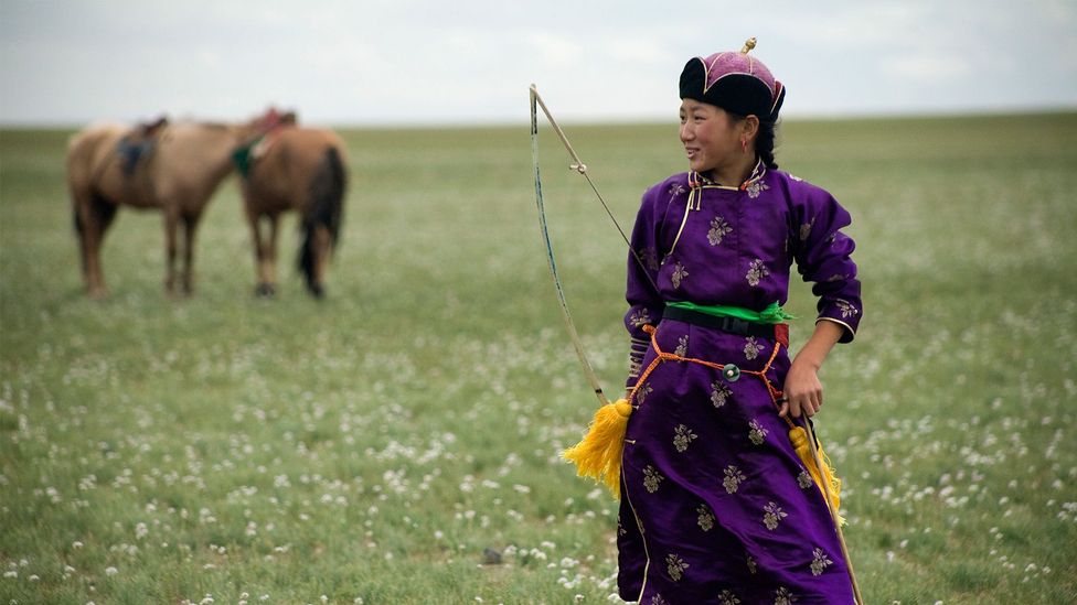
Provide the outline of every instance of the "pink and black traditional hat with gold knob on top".
<path id="1" fill-rule="evenodd" d="M 761 121 L 778 120 L 786 87 L 776 80 L 761 61 L 748 56 L 756 39 L 740 52 L 693 57 L 681 72 L 681 98 L 716 105 L 738 116 L 754 115 Z"/>

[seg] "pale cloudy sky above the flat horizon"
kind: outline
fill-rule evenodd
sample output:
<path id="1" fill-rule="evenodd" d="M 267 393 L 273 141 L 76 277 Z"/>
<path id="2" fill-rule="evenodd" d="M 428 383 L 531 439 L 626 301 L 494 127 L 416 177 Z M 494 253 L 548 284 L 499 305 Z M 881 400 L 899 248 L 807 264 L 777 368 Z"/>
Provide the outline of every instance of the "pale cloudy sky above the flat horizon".
<path id="1" fill-rule="evenodd" d="M 749 36 L 787 118 L 1077 110 L 1077 0 L 0 0 L 0 123 L 674 120 Z"/>

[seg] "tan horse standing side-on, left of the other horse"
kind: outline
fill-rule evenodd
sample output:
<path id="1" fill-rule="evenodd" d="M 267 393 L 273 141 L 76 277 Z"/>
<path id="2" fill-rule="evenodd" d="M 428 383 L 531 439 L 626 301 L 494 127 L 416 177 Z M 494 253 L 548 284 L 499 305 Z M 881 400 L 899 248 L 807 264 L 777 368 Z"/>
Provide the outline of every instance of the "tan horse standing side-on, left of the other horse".
<path id="1" fill-rule="evenodd" d="M 257 121 L 243 126 L 168 123 L 152 134 L 137 163 L 124 150 L 139 144 L 146 129 L 116 125 L 90 127 L 67 145 L 67 185 L 74 205 L 83 277 L 90 296 L 107 293 L 100 246 L 119 206 L 164 213 L 164 289 L 175 293 L 177 229 L 182 223 L 184 294 L 193 291 L 194 234 L 210 196 L 232 171 L 232 153 L 253 136 Z"/>

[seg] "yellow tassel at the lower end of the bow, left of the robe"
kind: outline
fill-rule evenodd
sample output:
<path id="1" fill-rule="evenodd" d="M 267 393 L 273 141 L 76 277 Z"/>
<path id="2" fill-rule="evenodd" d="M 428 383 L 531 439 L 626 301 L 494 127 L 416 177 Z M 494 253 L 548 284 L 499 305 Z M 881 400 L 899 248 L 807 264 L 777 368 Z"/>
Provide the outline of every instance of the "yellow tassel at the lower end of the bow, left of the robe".
<path id="1" fill-rule="evenodd" d="M 621 495 L 621 453 L 631 414 L 632 406 L 626 399 L 603 406 L 584 439 L 561 454 L 576 464 L 577 475 L 606 484 L 615 498 Z"/>

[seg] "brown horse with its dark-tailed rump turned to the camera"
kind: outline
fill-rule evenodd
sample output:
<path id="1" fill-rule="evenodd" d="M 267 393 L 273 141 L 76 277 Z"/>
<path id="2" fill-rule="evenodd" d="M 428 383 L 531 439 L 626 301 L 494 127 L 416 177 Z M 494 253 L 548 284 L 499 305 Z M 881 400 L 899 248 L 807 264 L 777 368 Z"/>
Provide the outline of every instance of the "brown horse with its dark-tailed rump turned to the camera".
<path id="1" fill-rule="evenodd" d="M 254 238 L 257 293 L 276 293 L 277 224 L 281 213 L 294 209 L 303 239 L 299 269 L 311 294 L 322 296 L 348 184 L 343 142 L 328 130 L 286 123 L 254 144 L 246 158 L 237 163 L 245 172 L 243 199 Z M 265 234 L 263 219 L 268 220 Z"/>

